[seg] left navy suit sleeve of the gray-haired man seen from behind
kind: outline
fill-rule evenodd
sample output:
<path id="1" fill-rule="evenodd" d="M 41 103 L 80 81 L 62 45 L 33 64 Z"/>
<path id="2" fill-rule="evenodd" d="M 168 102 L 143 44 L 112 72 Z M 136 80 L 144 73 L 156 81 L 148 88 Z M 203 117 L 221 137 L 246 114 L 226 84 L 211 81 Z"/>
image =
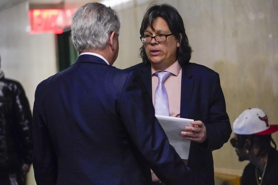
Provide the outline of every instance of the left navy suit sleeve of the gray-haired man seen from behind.
<path id="1" fill-rule="evenodd" d="M 39 85 L 40 86 L 40 85 Z M 53 149 L 46 118 L 41 111 L 39 86 L 33 108 L 33 167 L 37 185 L 55 185 L 58 174 L 57 158 Z"/>

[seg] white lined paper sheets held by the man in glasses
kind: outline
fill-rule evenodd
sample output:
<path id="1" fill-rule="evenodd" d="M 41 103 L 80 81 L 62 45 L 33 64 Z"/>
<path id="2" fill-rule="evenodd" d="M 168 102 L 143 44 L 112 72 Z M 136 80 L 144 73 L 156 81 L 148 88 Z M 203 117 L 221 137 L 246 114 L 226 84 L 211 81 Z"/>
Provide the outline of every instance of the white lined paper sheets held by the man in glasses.
<path id="1" fill-rule="evenodd" d="M 190 140 L 184 139 L 181 132 L 184 131 L 184 127 L 192 126 L 191 121 L 194 120 L 161 115 L 156 115 L 156 118 L 164 129 L 169 143 L 175 148 L 180 158 L 188 159 Z"/>

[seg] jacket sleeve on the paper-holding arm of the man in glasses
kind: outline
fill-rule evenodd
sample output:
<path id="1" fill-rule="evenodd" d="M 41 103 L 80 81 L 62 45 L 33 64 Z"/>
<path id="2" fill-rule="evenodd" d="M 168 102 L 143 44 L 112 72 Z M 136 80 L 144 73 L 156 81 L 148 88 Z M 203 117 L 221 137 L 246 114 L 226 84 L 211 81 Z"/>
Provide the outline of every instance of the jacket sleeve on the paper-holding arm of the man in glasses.
<path id="1" fill-rule="evenodd" d="M 213 151 L 220 149 L 228 141 L 232 133 L 218 74 L 213 80 L 209 107 L 209 123 L 206 124 L 208 140 L 203 145 L 208 142 L 208 149 Z"/>

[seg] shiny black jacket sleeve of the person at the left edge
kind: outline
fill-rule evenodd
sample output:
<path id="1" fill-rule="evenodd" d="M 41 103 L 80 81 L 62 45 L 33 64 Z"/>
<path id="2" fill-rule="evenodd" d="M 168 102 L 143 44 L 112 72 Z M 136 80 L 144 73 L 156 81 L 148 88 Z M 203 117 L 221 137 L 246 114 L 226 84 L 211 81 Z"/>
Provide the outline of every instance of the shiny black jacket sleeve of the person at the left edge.
<path id="1" fill-rule="evenodd" d="M 32 114 L 29 102 L 25 96 L 25 92 L 20 84 L 17 84 L 15 92 L 14 111 L 17 119 L 17 129 L 19 142 L 22 146 L 22 161 L 24 163 L 32 163 Z"/>

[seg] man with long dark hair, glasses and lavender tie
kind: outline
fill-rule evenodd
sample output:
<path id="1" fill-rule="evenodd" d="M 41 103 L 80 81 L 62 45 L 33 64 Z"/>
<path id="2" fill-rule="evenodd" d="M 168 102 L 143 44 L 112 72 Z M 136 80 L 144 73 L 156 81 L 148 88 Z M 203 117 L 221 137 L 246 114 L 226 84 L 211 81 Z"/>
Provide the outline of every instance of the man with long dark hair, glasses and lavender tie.
<path id="1" fill-rule="evenodd" d="M 126 70 L 141 77 L 152 96 L 156 114 L 196 120 L 181 132 L 191 140 L 185 162 L 195 177 L 185 183 L 214 184 L 212 151 L 221 148 L 231 135 L 219 75 L 189 62 L 191 47 L 182 18 L 173 6 L 149 6 L 140 35 L 142 63 Z M 156 175 L 152 174 L 153 181 L 160 182 Z"/>

